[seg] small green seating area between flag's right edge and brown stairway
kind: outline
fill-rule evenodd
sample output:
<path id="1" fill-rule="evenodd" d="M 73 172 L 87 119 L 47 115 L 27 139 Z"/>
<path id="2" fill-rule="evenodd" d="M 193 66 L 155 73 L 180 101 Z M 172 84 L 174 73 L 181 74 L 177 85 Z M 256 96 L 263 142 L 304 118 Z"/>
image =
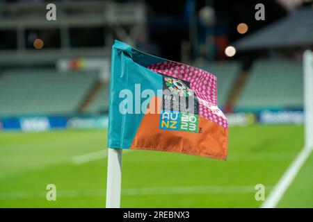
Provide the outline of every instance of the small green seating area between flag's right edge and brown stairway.
<path id="1" fill-rule="evenodd" d="M 236 78 L 239 76 L 239 62 L 196 63 L 195 67 L 209 71 L 218 78 L 218 106 L 224 108 Z"/>

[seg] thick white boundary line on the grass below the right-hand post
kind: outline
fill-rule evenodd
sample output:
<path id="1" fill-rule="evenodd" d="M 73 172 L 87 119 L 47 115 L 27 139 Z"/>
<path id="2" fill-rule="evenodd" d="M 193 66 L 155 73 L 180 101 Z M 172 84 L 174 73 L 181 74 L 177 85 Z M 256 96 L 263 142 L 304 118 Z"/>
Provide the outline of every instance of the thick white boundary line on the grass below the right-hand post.
<path id="1" fill-rule="evenodd" d="M 271 194 L 266 198 L 265 202 L 262 204 L 261 208 L 274 208 L 287 191 L 291 182 L 296 178 L 296 175 L 300 171 L 301 167 L 310 156 L 313 148 L 304 147 L 297 157 L 294 159 L 294 162 L 291 163 L 287 171 L 284 173 L 279 182 L 275 185 Z"/>

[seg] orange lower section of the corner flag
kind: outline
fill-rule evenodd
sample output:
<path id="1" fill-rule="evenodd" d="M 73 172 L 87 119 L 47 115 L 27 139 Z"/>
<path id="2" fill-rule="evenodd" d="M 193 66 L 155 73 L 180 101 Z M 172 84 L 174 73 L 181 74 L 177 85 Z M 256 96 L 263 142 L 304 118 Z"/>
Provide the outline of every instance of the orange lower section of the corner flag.
<path id="1" fill-rule="evenodd" d="M 228 128 L 199 116 L 198 133 L 161 130 L 160 112 L 157 112 L 159 111 L 157 108 L 161 107 L 159 103 L 161 98 L 154 96 L 137 130 L 131 149 L 168 151 L 226 160 Z"/>

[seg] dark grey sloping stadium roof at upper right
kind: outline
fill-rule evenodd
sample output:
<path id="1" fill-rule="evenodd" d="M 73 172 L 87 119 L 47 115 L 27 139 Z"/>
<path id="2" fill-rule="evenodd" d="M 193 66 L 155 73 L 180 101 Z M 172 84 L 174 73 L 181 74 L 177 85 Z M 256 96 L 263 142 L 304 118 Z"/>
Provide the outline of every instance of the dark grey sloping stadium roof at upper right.
<path id="1" fill-rule="evenodd" d="M 233 43 L 239 51 L 313 45 L 313 9 L 300 8 L 287 17 Z"/>

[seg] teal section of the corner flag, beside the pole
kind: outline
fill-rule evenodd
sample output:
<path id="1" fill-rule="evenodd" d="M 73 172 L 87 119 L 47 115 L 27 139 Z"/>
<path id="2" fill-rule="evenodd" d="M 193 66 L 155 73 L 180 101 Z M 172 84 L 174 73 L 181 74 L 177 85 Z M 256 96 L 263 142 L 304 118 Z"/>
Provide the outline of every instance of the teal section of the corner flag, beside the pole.
<path id="1" fill-rule="evenodd" d="M 166 60 L 143 53 L 124 42 L 115 40 L 112 46 L 110 75 L 109 148 L 131 146 L 144 115 L 141 111 L 135 113 L 135 106 L 147 99 L 141 98 L 141 92 L 145 89 L 152 89 L 157 95 L 157 89 L 163 87 L 162 76 L 146 67 L 164 61 Z M 120 104 L 129 94 L 132 94 L 134 101 L 133 113 L 122 114 Z"/>

